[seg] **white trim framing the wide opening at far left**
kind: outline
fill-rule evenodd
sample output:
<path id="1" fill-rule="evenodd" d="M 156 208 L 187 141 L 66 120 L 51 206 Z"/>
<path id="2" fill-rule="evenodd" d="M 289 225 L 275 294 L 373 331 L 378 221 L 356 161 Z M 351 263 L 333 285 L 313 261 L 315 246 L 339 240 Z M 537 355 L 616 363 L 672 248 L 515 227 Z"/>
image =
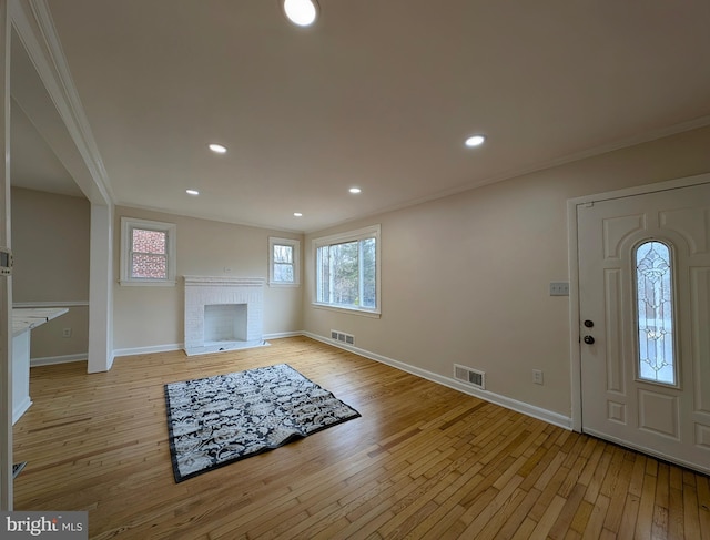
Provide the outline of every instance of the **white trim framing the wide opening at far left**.
<path id="1" fill-rule="evenodd" d="M 16 33 L 21 47 L 30 58 L 44 90 L 51 98 L 51 104 L 59 113 L 71 144 L 62 146 L 60 160 L 72 174 L 74 181 L 91 203 L 91 264 L 90 264 L 90 298 L 89 312 L 92 324 L 89 335 L 89 371 L 105 371 L 113 361 L 113 336 L 111 314 L 113 310 L 112 288 L 112 246 L 113 246 L 113 210 L 114 197 L 110 189 L 108 174 L 101 155 L 93 140 L 91 129 L 85 119 L 81 100 L 74 88 L 69 67 L 63 57 L 59 37 L 45 0 L 0 0 L 0 26 L 4 29 L 0 39 L 0 58 L 8 61 L 11 57 L 11 34 Z M 2 79 L 2 78 L 0 78 Z M 9 79 L 9 74 L 7 75 Z M 0 101 L 9 109 L 9 81 L 4 81 L 6 91 L 0 91 Z M 17 96 L 20 98 L 20 96 Z M 31 110 L 29 108 L 28 110 Z M 0 129 L 6 136 L 0 137 L 0 146 L 8 146 L 9 142 L 9 111 L 0 114 Z M 41 119 L 34 119 L 41 120 Z M 52 123 L 52 119 L 47 120 Z M 36 123 L 36 126 L 39 125 Z M 54 125 L 53 125 L 54 126 Z M 45 136 L 47 133 L 43 133 Z M 47 136 L 45 136 L 47 139 Z M 49 142 L 49 139 L 48 139 Z M 51 144 L 50 144 L 51 145 Z M 55 149 L 57 151 L 57 149 Z M 3 151 L 2 155 L 9 155 Z M 0 159 L 1 161 L 1 159 Z M 8 166 L 7 164 L 4 165 Z M 8 176 L 8 174 L 4 174 Z M 10 204 L 9 179 L 0 179 L 0 191 L 3 193 L 0 204 L 6 208 L 0 218 L 7 218 L 7 226 L 0 227 L 0 245 L 10 244 Z M 6 193 L 7 192 L 7 193 Z M 7 232 L 6 232 L 7 228 Z M 11 320 L 11 278 L 1 278 L 0 286 L 9 294 L 3 294 L 4 307 L 0 307 L 2 316 L 0 324 L 12 334 Z M 7 312 L 7 313 L 6 313 Z M 4 340 L 4 338 L 3 338 Z M 0 380 L 6 387 L 0 403 L 0 509 L 12 509 L 12 377 L 11 377 L 11 338 L 9 345 L 0 346 Z"/>

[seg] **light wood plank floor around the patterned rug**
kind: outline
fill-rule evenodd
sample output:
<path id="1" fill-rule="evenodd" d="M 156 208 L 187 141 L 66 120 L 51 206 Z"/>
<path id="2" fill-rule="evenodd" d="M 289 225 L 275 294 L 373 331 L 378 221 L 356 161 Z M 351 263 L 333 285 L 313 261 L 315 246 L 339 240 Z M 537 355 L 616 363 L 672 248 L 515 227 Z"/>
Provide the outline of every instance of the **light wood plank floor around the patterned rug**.
<path id="1" fill-rule="evenodd" d="M 163 384 L 287 363 L 363 416 L 175 483 Z M 90 538 L 710 539 L 708 477 L 313 342 L 32 369 L 17 510 Z"/>

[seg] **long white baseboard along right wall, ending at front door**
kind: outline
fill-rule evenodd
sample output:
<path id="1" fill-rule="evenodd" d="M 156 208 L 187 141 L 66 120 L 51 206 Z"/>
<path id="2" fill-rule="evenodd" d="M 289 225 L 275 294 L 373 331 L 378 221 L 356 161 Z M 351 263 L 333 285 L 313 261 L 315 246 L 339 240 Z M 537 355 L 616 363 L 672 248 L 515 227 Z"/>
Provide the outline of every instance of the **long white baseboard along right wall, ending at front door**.
<path id="1" fill-rule="evenodd" d="M 520 412 L 526 416 L 530 416 L 532 418 L 537 418 L 538 420 L 544 420 L 548 424 L 552 424 L 555 426 L 559 426 L 565 429 L 571 429 L 572 420 L 570 417 L 560 415 L 559 412 L 554 412 L 551 410 L 542 409 L 540 407 L 536 407 L 534 405 L 526 404 L 524 401 L 518 401 L 517 399 L 511 399 L 506 396 L 501 396 L 499 394 L 495 394 L 488 390 L 479 390 L 477 388 L 470 388 L 458 380 L 445 377 L 443 375 L 438 375 L 426 369 L 420 369 L 415 366 L 410 366 L 403 361 L 398 361 L 392 358 L 387 358 L 386 356 L 382 356 L 375 353 L 371 353 L 365 349 L 361 349 L 358 347 L 354 347 L 352 345 L 345 345 L 341 342 L 336 342 L 335 339 L 331 339 L 324 336 L 318 336 L 316 334 L 312 334 L 310 332 L 303 332 L 302 335 L 311 337 L 317 342 L 322 342 L 328 345 L 333 345 L 334 347 L 342 348 L 344 350 L 349 350 L 351 353 L 355 353 L 356 355 L 364 356 L 365 358 L 369 358 L 371 360 L 379 361 L 382 364 L 386 364 L 387 366 L 400 369 L 412 375 L 416 375 L 417 377 L 422 377 L 424 379 L 430 380 L 433 383 L 437 383 L 439 385 L 447 386 L 455 390 L 463 391 L 464 394 L 468 394 L 469 396 L 474 396 L 486 401 L 490 401 L 496 405 L 500 405 L 507 409 L 515 410 L 516 412 Z"/>

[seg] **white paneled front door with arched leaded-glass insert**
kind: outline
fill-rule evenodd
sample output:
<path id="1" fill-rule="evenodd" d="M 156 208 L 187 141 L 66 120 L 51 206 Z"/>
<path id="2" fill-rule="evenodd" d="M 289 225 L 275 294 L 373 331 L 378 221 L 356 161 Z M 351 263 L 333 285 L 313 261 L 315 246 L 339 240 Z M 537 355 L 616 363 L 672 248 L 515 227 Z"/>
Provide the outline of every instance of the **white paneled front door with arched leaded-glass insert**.
<path id="1" fill-rule="evenodd" d="M 710 472 L 710 184 L 577 207 L 582 431 Z"/>

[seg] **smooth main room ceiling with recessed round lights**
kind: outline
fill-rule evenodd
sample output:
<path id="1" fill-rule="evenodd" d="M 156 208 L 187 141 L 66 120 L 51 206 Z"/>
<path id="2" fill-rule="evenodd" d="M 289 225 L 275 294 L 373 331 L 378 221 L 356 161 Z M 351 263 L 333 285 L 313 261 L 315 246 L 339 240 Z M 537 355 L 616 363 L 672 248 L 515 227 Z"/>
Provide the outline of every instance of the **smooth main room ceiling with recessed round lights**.
<path id="1" fill-rule="evenodd" d="M 707 0 L 47 3 L 121 205 L 307 232 L 710 124 Z"/>

